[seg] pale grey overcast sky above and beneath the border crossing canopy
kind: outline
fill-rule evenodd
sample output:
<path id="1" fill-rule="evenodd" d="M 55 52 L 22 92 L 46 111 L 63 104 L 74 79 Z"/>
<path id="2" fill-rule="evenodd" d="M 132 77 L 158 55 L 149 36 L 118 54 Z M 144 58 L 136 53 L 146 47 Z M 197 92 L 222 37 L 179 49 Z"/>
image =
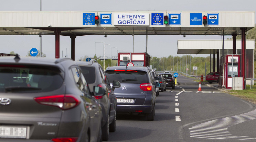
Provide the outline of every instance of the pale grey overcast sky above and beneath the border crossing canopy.
<path id="1" fill-rule="evenodd" d="M 256 0 L 42 0 L 42 11 L 255 11 Z M 0 11 L 40 11 L 40 0 L 0 0 Z M 256 19 L 256 18 L 255 18 Z M 227 38 L 227 37 L 225 37 Z M 148 35 L 148 53 L 154 57 L 177 56 L 178 39 L 221 39 L 221 36 L 203 35 Z M 14 51 L 26 56 L 31 48 L 39 50 L 39 36 L 2 36 L 0 52 Z M 132 36 L 87 35 L 75 39 L 75 60 L 79 57 L 93 57 L 95 42 L 105 42 L 106 56 L 117 56 L 117 50 L 132 52 Z M 103 56 L 104 44 L 96 43 L 96 55 Z M 134 52 L 145 52 L 146 36 L 134 36 Z M 71 57 L 71 38 L 60 37 L 60 57 Z M 67 52 L 66 52 L 67 51 Z M 55 58 L 55 36 L 42 36 L 42 52 Z M 119 51 L 120 52 L 120 51 Z M 178 55 L 180 56 L 180 55 Z M 193 55 L 192 55 L 193 56 Z M 206 55 L 200 55 L 206 56 Z"/>

